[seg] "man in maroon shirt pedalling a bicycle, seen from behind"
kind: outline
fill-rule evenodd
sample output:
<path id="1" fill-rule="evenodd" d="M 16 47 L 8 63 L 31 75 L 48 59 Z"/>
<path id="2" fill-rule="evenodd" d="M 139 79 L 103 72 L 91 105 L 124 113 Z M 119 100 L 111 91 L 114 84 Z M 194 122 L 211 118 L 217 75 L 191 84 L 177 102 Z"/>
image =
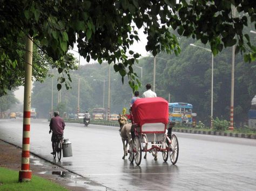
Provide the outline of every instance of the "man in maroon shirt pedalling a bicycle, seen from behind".
<path id="1" fill-rule="evenodd" d="M 51 142 L 52 142 L 52 151 L 51 154 L 54 154 L 54 142 L 57 141 L 58 136 L 63 137 L 63 132 L 65 128 L 65 123 L 61 117 L 59 117 L 59 112 L 55 111 L 54 112 L 54 117 L 51 118 L 50 121 L 50 131 L 49 134 L 52 132 L 51 136 Z"/>

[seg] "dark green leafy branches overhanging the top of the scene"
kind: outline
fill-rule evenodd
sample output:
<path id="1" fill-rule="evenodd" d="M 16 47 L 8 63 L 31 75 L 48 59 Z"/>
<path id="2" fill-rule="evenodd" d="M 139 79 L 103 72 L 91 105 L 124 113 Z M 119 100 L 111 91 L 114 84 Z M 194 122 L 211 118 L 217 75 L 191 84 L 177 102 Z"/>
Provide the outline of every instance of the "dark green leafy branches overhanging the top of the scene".
<path id="1" fill-rule="evenodd" d="M 140 85 L 132 68 L 140 55 L 129 51 L 134 40 L 139 40 L 135 26 L 144 30 L 148 40 L 146 50 L 153 55 L 161 51 L 180 52 L 176 35 L 171 32 L 171 29 L 177 29 L 182 36 L 200 39 L 204 44 L 210 43 L 214 55 L 223 47 L 237 45 L 236 53 L 245 53 L 245 61 L 255 59 L 256 48 L 248 34 L 242 32 L 248 23 L 255 24 L 254 0 L 176 2 L 1 0 L 0 54 L 10 60 L 2 59 L 1 66 L 6 72 L 14 70 L 15 73 L 23 73 L 20 68 L 16 70 L 21 61 L 16 52 L 16 43 L 18 37 L 30 34 L 39 41 L 41 51 L 53 60 L 63 58 L 68 49 L 77 43 L 80 55 L 87 61 L 114 62 L 114 70 L 120 73 L 122 81 L 127 75 L 134 90 Z M 232 6 L 239 15 L 232 15 Z M 131 57 L 127 56 L 128 51 Z M 60 73 L 70 68 L 67 62 L 62 63 L 57 66 Z M 1 78 L 1 84 L 4 80 Z M 17 86 L 20 80 L 14 79 L 12 86 Z M 65 78 L 59 82 L 66 82 Z M 61 88 L 60 84 L 58 88 Z"/>

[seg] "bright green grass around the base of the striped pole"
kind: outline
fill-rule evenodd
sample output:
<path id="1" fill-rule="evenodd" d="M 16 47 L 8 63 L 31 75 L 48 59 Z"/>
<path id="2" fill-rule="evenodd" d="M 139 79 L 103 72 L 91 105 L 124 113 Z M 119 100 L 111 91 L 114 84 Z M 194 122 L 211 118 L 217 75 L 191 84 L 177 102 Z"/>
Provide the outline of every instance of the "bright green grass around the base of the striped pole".
<path id="1" fill-rule="evenodd" d="M 32 175 L 29 182 L 18 182 L 18 172 L 0 167 L 0 190 L 68 190 L 50 180 Z"/>

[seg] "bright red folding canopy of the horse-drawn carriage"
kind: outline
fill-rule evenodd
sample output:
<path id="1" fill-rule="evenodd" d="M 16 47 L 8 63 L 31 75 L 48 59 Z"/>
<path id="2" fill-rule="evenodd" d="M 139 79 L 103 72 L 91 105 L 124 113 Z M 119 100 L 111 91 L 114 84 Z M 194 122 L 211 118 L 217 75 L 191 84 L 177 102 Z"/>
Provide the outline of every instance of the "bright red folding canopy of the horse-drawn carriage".
<path id="1" fill-rule="evenodd" d="M 134 123 L 164 123 L 169 121 L 169 103 L 161 97 L 137 99 L 132 104 Z"/>

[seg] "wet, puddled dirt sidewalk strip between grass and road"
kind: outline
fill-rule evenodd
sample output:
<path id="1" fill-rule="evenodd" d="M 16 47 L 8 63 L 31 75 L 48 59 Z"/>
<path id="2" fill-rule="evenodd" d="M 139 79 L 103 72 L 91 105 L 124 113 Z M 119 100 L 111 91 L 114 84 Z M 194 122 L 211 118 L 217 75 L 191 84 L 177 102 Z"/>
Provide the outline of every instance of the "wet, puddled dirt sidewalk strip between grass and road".
<path id="1" fill-rule="evenodd" d="M 8 144 L 0 139 L 0 153 L 0 167 L 13 169 L 15 171 L 21 170 L 21 148 Z M 32 179 L 33 175 L 41 176 L 42 178 L 56 182 L 69 190 L 91 190 L 86 189 L 86 187 L 89 185 L 93 186 L 94 184 L 82 176 L 73 174 L 64 168 L 51 164 L 33 154 L 30 154 L 30 169 L 32 171 Z"/>

